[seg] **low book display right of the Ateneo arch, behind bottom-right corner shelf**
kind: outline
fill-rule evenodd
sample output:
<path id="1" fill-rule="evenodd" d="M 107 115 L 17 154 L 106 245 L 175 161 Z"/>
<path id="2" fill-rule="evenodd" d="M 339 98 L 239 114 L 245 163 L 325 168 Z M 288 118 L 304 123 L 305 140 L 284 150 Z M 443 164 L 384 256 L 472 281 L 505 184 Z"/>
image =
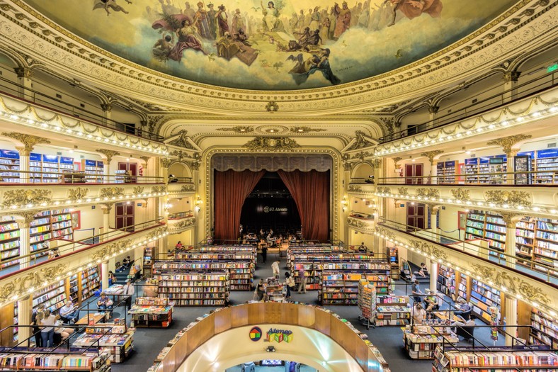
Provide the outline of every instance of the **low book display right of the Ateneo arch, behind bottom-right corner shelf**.
<path id="1" fill-rule="evenodd" d="M 406 326 L 403 340 L 411 359 L 434 359 L 434 351 L 439 345 L 459 342 L 448 322 L 432 319 L 422 325 Z"/>

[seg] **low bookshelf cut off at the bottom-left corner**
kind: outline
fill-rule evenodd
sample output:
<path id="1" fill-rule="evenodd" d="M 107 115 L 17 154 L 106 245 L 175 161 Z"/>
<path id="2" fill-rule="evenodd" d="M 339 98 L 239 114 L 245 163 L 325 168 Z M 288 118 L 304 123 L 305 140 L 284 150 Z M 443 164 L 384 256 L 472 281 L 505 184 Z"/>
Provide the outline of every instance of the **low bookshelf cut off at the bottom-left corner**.
<path id="1" fill-rule="evenodd" d="M 26 348 L 25 348 L 26 349 Z M 52 353 L 52 349 L 36 349 L 29 351 L 11 351 L 0 349 L 0 366 L 7 371 L 91 371 L 108 372 L 110 363 L 107 353 L 82 351 L 76 354 Z"/>

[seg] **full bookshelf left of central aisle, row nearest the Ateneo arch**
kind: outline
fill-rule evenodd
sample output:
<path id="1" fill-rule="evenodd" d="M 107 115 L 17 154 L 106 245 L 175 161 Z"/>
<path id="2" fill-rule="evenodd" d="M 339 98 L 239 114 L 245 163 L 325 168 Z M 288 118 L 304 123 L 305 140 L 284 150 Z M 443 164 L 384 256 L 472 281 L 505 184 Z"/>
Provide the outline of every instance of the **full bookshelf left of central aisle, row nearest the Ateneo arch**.
<path id="1" fill-rule="evenodd" d="M 159 298 L 169 298 L 175 306 L 223 306 L 229 297 L 227 263 L 201 264 L 174 261 L 156 262 L 153 274 L 159 280 Z M 224 266 L 221 268 L 220 266 Z"/>

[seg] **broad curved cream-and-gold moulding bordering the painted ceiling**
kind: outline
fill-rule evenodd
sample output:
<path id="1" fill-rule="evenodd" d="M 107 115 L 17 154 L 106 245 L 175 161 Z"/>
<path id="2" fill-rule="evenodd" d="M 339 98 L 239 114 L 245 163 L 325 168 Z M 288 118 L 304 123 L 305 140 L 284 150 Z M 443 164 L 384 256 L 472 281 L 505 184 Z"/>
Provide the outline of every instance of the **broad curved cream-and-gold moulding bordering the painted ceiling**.
<path id="1" fill-rule="evenodd" d="M 487 61 L 497 63 L 520 47 L 536 47 L 533 41 L 552 31 L 556 23 L 555 14 L 544 9 L 552 8 L 554 3 L 518 1 L 477 32 L 406 67 L 342 86 L 262 94 L 196 84 L 153 72 L 77 38 L 21 0 L 4 1 L 6 25 L 1 26 L 1 35 L 5 43 L 18 45 L 29 55 L 40 56 L 42 60 L 57 64 L 60 69 L 70 70 L 72 74 L 118 86 L 120 91 L 150 96 L 167 104 L 173 101 L 224 111 L 237 111 L 239 106 L 246 111 L 261 111 L 262 103 L 269 104 L 275 99 L 281 101 L 281 111 L 291 112 L 370 106 L 370 103 L 380 103 L 382 99 L 393 99 L 397 95 L 404 96 L 416 90 L 431 89 L 436 84 L 446 84 L 452 79 L 462 79 L 469 71 L 482 68 Z M 316 101 L 321 102 L 317 104 Z"/>

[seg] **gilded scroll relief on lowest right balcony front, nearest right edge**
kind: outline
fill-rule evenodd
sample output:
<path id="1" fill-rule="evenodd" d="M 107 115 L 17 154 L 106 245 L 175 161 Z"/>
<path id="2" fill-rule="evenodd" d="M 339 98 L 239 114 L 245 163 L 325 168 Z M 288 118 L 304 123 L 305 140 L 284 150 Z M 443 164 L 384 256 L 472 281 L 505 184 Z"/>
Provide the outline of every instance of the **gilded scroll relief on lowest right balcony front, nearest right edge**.
<path id="1" fill-rule="evenodd" d="M 481 281 L 484 283 L 489 283 L 490 285 L 495 283 L 497 286 L 506 288 L 506 292 L 524 300 L 542 305 L 552 303 L 552 300 L 550 300 L 543 288 L 530 285 L 522 278 L 511 276 L 507 271 L 475 263 L 470 263 L 470 266 L 474 267 L 476 274 L 481 277 Z"/>

